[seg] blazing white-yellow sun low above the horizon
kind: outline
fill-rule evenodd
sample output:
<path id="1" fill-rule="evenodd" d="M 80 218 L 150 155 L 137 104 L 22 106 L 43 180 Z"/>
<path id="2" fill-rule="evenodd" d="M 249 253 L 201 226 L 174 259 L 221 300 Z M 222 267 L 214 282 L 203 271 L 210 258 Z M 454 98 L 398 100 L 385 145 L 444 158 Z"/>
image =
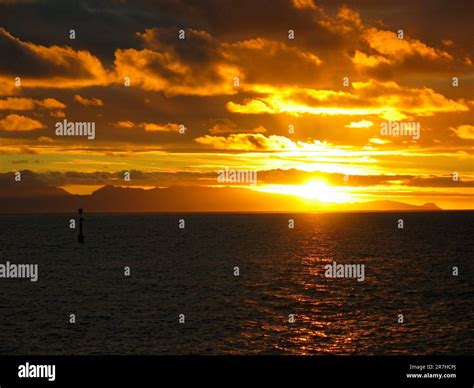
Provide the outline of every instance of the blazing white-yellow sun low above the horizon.
<path id="1" fill-rule="evenodd" d="M 276 194 L 295 195 L 320 202 L 351 202 L 351 195 L 343 188 L 334 187 L 322 181 L 310 181 L 302 185 L 265 185 L 257 190 Z"/>

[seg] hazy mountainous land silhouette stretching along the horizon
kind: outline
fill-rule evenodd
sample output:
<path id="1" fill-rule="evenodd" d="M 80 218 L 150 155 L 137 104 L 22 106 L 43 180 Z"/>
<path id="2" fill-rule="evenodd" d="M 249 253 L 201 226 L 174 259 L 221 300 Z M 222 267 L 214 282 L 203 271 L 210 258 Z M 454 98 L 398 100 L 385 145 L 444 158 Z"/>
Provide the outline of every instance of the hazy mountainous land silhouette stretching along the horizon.
<path id="1" fill-rule="evenodd" d="M 329 204 L 292 195 L 235 187 L 171 186 L 127 188 L 104 186 L 90 195 L 74 195 L 43 183 L 17 183 L 0 188 L 0 213 L 133 212 L 304 212 L 304 211 L 438 211 L 397 201 Z"/>

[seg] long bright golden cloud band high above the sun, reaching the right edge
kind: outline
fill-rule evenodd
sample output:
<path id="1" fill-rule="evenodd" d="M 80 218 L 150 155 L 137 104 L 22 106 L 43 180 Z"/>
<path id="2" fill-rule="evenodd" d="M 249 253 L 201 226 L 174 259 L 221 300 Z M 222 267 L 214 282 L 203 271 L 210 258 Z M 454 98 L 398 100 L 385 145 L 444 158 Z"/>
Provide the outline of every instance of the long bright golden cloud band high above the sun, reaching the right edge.
<path id="1" fill-rule="evenodd" d="M 315 89 L 267 89 L 264 97 L 244 100 L 243 104 L 228 102 L 233 113 L 278 114 L 294 116 L 351 115 L 379 116 L 401 120 L 408 115 L 432 116 L 439 112 L 465 112 L 465 101 L 450 100 L 429 88 L 402 87 L 395 82 L 353 82 L 351 92 Z"/>

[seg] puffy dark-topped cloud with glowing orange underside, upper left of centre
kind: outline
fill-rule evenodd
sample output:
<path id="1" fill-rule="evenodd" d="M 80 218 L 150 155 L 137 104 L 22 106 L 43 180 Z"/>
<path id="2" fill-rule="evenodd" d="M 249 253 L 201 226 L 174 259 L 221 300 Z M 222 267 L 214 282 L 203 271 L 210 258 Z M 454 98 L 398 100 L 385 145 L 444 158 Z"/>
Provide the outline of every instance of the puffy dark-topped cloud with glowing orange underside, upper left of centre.
<path id="1" fill-rule="evenodd" d="M 148 29 L 137 36 L 143 50 L 119 49 L 115 52 L 115 72 L 119 82 L 128 77 L 131 84 L 168 95 L 212 96 L 236 93 L 234 77 L 243 78 L 236 66 L 226 63 L 219 43 L 205 31 Z M 192 53 L 199 50 L 202 60 Z"/>

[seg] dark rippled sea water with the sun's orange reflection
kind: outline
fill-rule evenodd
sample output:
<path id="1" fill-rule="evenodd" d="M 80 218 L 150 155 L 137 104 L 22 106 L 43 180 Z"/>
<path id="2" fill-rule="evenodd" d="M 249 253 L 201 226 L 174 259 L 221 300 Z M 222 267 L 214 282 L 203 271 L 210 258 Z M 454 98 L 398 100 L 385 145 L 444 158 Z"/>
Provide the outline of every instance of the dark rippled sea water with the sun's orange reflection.
<path id="1" fill-rule="evenodd" d="M 473 215 L 2 215 L 0 354 L 474 354 Z"/>

